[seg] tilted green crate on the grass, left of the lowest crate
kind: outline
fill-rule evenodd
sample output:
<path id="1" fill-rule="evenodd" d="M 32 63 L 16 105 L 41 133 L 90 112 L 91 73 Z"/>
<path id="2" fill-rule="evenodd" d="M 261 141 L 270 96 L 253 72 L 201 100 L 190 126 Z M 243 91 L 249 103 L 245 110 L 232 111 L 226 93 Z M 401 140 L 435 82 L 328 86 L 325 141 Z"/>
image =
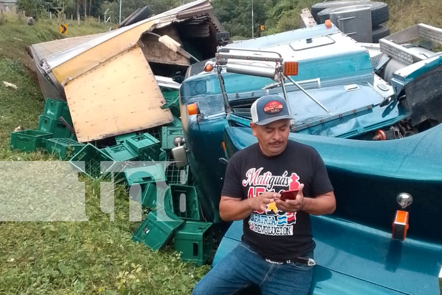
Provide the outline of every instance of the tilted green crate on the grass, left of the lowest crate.
<path id="1" fill-rule="evenodd" d="M 173 238 L 175 231 L 184 224 L 184 220 L 175 214 L 168 211 L 166 214 L 173 220 L 157 220 L 157 211 L 150 212 L 133 234 L 132 240 L 143 242 L 154 251 L 164 247 Z"/>

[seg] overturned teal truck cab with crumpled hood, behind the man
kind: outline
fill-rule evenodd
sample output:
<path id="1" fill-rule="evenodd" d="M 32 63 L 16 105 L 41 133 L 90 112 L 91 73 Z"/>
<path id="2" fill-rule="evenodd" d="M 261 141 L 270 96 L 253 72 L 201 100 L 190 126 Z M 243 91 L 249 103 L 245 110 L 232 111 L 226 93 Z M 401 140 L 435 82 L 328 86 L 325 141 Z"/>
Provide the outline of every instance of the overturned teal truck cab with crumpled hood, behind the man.
<path id="1" fill-rule="evenodd" d="M 233 43 L 181 85 L 185 159 L 175 160 L 190 165 L 207 221 L 223 222 L 225 168 L 256 142 L 250 106 L 260 96 L 283 96 L 290 140 L 324 159 L 337 207 L 312 216 L 311 294 L 440 294 L 442 54 L 428 45 L 442 30 L 408 29 L 425 44 L 404 36 L 361 44 L 320 24 Z M 241 222 L 228 224 L 213 264 L 240 241 Z"/>

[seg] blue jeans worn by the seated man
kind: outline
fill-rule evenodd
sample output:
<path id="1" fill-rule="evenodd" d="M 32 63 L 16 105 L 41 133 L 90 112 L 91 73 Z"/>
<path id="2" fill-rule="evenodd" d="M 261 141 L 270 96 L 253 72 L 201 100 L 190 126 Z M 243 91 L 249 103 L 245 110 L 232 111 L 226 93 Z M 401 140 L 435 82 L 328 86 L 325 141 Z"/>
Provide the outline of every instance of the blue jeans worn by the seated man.
<path id="1" fill-rule="evenodd" d="M 312 255 L 309 258 L 313 258 Z M 231 295 L 257 285 L 263 295 L 306 295 L 313 267 L 301 263 L 267 262 L 250 246 L 240 242 L 194 287 L 192 295 Z"/>

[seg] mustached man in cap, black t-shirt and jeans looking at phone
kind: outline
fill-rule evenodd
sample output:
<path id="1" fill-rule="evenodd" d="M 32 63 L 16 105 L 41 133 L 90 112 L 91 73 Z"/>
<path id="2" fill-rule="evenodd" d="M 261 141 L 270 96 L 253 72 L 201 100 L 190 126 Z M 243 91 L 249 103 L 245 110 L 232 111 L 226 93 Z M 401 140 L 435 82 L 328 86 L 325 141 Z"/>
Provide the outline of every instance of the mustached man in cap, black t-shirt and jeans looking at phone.
<path id="1" fill-rule="evenodd" d="M 219 204 L 225 221 L 244 219 L 240 244 L 195 286 L 193 294 L 230 295 L 251 284 L 263 295 L 305 295 L 315 264 L 310 214 L 335 211 L 324 162 L 310 146 L 289 141 L 286 101 L 267 95 L 251 106 L 258 143 L 235 153 Z M 296 199 L 281 192 L 298 190 Z"/>

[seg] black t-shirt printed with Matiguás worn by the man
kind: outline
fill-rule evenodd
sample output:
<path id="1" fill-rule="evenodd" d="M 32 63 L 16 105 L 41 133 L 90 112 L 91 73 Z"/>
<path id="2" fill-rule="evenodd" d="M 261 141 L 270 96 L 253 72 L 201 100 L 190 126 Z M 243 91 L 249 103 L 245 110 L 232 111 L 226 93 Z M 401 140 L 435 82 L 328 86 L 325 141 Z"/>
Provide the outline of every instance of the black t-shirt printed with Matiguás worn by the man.
<path id="1" fill-rule="evenodd" d="M 297 189 L 301 183 L 305 197 L 333 190 L 324 162 L 314 148 L 289 140 L 281 154 L 267 157 L 256 143 L 231 157 L 221 195 L 246 199 L 263 192 Z M 274 203 L 267 209 L 267 214 L 255 211 L 244 219 L 245 243 L 275 261 L 302 256 L 314 249 L 308 213 L 278 211 Z"/>

